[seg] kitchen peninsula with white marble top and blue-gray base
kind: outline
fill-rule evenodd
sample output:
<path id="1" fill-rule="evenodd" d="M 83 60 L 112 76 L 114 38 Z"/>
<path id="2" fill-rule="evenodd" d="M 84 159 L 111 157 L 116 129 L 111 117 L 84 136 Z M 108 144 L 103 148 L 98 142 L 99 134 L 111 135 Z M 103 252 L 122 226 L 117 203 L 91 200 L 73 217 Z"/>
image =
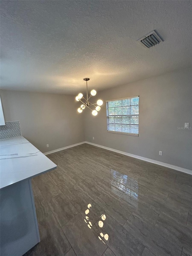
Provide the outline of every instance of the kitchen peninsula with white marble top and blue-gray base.
<path id="1" fill-rule="evenodd" d="M 22 256 L 40 242 L 31 179 L 57 166 L 22 136 L 0 146 L 0 252 Z"/>

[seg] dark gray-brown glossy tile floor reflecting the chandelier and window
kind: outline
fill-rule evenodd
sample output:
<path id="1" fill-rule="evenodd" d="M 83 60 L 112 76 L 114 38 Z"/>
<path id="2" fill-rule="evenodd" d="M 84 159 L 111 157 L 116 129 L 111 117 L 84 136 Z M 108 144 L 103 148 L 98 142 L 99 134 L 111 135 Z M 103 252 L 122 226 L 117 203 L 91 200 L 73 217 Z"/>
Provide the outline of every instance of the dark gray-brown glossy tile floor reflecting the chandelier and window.
<path id="1" fill-rule="evenodd" d="M 192 176 L 88 144 L 33 179 L 41 242 L 30 256 L 191 256 Z"/>

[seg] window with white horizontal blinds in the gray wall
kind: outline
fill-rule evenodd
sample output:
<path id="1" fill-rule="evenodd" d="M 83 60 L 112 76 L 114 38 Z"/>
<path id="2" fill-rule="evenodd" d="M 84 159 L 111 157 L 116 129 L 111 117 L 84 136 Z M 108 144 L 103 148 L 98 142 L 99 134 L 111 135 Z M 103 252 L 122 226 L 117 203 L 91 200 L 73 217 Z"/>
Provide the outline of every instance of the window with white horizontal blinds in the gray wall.
<path id="1" fill-rule="evenodd" d="M 139 135 L 139 96 L 106 101 L 107 131 Z"/>

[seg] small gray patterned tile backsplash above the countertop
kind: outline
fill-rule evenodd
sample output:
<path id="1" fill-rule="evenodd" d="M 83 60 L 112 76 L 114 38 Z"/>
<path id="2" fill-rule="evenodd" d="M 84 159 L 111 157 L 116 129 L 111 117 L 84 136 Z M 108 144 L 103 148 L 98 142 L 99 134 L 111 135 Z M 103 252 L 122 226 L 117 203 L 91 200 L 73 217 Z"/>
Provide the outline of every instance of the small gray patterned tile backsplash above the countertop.
<path id="1" fill-rule="evenodd" d="M 5 122 L 5 125 L 0 126 L 0 139 L 21 135 L 21 126 L 19 121 Z"/>

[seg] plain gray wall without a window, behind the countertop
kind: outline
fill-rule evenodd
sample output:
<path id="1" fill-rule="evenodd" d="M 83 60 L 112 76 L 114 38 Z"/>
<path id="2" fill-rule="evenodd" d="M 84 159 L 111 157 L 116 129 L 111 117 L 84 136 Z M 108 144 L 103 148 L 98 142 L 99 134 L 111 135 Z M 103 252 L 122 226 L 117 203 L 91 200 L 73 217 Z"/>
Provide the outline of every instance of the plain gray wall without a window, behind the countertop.
<path id="1" fill-rule="evenodd" d="M 20 120 L 22 135 L 41 152 L 85 140 L 72 95 L 1 90 L 1 101 L 5 121 Z"/>

